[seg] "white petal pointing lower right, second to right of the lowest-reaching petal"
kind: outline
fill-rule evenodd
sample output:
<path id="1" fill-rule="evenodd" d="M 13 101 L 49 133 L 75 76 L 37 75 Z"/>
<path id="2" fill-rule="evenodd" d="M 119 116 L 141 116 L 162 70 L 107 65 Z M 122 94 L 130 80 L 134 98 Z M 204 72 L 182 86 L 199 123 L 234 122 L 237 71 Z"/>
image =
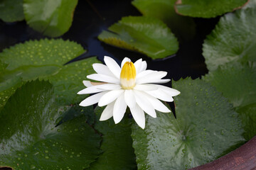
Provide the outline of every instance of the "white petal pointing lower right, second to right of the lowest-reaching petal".
<path id="1" fill-rule="evenodd" d="M 140 91 L 140 96 L 142 96 L 142 98 L 146 98 L 151 103 L 151 105 L 154 107 L 154 109 L 156 109 L 156 111 L 160 111 L 163 113 L 171 112 L 169 110 L 169 108 L 167 108 L 163 103 L 161 103 L 161 101 L 159 101 L 159 99 L 154 98 L 153 96 L 150 96 L 149 94 L 146 94 L 144 91 Z"/>

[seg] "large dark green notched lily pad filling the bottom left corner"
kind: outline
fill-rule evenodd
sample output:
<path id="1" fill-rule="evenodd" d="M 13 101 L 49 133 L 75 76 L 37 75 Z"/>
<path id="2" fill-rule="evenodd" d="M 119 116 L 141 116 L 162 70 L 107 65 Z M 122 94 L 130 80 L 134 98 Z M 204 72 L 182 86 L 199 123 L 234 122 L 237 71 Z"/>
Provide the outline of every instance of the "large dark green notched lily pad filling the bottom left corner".
<path id="1" fill-rule="evenodd" d="M 55 127 L 69 107 L 55 103 L 53 86 L 32 81 L 9 98 L 0 115 L 0 167 L 85 169 L 100 154 L 100 135 L 81 116 Z"/>

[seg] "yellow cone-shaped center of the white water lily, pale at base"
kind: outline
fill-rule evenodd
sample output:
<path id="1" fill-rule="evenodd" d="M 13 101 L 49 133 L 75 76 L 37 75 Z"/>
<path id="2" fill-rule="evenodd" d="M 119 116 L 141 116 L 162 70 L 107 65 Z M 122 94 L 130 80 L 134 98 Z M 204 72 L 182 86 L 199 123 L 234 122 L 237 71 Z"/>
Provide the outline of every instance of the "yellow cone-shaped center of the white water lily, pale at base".
<path id="1" fill-rule="evenodd" d="M 120 74 L 122 89 L 132 89 L 136 81 L 136 69 L 132 62 L 125 62 Z"/>

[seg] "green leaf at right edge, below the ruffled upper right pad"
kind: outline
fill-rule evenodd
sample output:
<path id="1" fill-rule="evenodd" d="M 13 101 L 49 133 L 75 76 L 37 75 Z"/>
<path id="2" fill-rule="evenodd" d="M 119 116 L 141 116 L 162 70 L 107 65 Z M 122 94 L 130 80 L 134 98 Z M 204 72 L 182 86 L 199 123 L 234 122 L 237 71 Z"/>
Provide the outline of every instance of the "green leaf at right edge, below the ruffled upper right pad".
<path id="1" fill-rule="evenodd" d="M 223 93 L 237 108 L 245 126 L 245 139 L 256 135 L 256 69 L 238 62 L 228 63 L 206 74 L 203 79 Z"/>

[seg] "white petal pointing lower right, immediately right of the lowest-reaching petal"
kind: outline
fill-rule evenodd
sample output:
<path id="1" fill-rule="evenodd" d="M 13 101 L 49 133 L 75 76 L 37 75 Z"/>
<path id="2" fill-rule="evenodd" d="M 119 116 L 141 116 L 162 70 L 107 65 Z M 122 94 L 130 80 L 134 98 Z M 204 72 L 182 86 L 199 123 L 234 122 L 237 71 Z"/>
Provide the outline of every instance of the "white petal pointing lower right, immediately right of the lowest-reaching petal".
<path id="1" fill-rule="evenodd" d="M 156 118 L 156 111 L 154 110 L 151 103 L 146 98 L 143 98 L 142 93 L 140 91 L 134 90 L 134 96 L 139 107 L 142 108 L 142 110 L 149 114 L 151 117 Z"/>

